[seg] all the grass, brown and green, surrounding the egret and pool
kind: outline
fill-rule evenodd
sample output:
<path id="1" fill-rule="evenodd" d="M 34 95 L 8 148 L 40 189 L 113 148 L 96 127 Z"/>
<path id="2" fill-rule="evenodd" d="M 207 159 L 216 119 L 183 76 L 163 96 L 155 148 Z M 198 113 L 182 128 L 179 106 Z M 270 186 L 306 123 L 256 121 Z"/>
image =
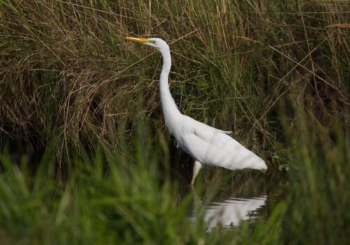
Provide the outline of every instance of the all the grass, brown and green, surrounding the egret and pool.
<path id="1" fill-rule="evenodd" d="M 349 13 L 347 1 L 0 1 L 1 240 L 346 242 Z M 267 220 L 210 234 L 188 222 L 160 55 L 124 36 L 164 38 L 181 112 L 232 130 L 283 179 Z"/>

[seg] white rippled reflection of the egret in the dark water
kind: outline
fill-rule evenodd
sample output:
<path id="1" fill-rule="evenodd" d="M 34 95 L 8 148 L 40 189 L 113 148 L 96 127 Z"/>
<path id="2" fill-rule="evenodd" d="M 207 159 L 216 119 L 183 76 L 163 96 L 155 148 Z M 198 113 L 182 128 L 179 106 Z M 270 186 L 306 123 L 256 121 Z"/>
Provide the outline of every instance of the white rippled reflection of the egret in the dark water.
<path id="1" fill-rule="evenodd" d="M 229 229 L 254 216 L 254 211 L 265 205 L 266 196 L 252 198 L 229 198 L 223 202 L 211 202 L 204 207 L 204 221 L 208 231 L 220 225 Z M 195 219 L 195 216 L 191 218 Z"/>

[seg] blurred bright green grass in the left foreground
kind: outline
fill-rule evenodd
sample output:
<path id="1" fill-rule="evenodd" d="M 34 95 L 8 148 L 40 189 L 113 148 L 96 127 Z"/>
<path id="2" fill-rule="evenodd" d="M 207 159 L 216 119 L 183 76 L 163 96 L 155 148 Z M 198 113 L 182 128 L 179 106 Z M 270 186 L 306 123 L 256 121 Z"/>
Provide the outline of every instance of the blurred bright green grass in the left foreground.
<path id="1" fill-rule="evenodd" d="M 54 176 L 52 149 L 47 148 L 34 177 L 10 161 L 0 161 L 0 239 L 15 244 L 213 244 L 239 241 L 239 233 L 206 233 L 201 216 L 190 223 L 192 195 L 177 204 L 174 183 L 158 171 L 149 145 L 136 140 L 132 162 L 99 148 L 88 157 L 83 148 L 71 155 L 69 179 Z M 140 157 L 142 155 L 142 157 Z M 164 162 L 162 162 L 164 164 Z M 276 214 L 275 214 L 276 213 Z M 262 225 L 278 237 L 274 220 Z M 248 231 L 248 226 L 242 228 Z M 259 228 L 260 229 L 260 228 Z M 262 233 L 255 230 L 258 239 Z M 235 236 L 234 236 L 235 235 Z M 268 240 L 276 239 L 270 237 Z M 256 241 L 256 240 L 255 240 Z"/>

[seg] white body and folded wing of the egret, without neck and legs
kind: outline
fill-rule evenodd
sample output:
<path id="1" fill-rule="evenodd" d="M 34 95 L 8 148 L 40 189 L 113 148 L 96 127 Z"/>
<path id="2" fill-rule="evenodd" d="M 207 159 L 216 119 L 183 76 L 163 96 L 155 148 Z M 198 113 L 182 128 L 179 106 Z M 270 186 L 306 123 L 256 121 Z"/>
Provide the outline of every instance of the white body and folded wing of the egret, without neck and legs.
<path id="1" fill-rule="evenodd" d="M 238 141 L 204 123 L 190 118 L 181 134 L 181 147 L 198 161 L 226 169 L 267 169 L 265 162 Z"/>

